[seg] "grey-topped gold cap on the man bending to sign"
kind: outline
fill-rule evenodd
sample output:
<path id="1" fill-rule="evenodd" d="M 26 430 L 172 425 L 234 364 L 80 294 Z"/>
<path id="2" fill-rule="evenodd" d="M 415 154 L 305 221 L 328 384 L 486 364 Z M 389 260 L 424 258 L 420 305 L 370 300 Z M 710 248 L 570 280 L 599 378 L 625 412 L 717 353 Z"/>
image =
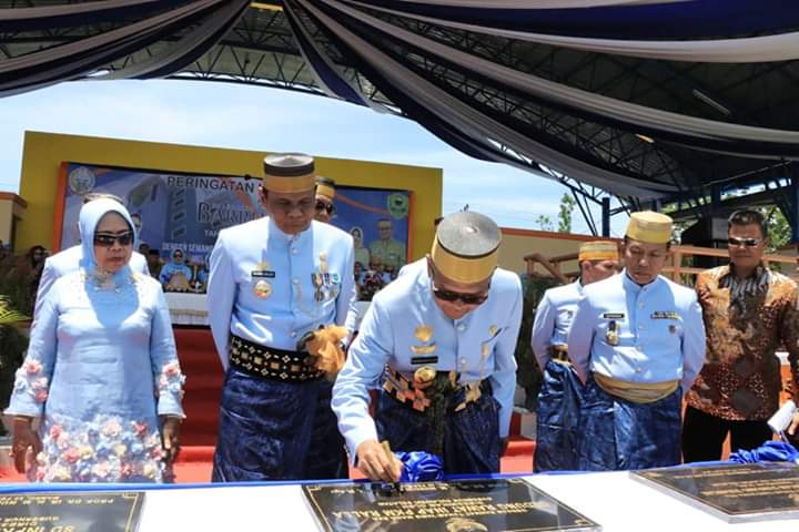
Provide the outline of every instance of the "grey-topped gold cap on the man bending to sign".
<path id="1" fill-rule="evenodd" d="M 456 283 L 481 283 L 494 274 L 499 255 L 499 227 L 479 213 L 458 212 L 436 228 L 431 257 L 436 269 Z"/>

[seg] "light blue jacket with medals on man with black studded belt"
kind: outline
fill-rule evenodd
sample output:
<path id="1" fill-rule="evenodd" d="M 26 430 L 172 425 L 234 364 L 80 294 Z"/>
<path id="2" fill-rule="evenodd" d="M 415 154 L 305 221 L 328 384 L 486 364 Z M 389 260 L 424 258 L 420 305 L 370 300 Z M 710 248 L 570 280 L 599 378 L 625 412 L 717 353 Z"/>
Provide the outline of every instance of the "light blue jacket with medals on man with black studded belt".
<path id="1" fill-rule="evenodd" d="M 355 324 L 352 236 L 320 222 L 287 235 L 271 217 L 223 229 L 211 253 L 209 321 L 227 369 L 231 332 L 296 350 L 321 325 Z M 261 297 L 259 297 L 261 296 Z"/>

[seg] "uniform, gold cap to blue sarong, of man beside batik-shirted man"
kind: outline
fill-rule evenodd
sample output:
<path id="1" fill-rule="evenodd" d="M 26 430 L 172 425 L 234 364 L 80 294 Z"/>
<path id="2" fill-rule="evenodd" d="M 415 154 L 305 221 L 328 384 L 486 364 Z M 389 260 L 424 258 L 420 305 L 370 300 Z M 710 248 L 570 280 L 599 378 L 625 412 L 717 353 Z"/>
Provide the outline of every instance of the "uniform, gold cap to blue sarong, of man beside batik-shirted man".
<path id="1" fill-rule="evenodd" d="M 630 225 L 639 214 L 657 213 L 634 213 Z M 660 241 L 647 241 L 647 232 L 630 227 L 627 235 L 666 243 L 668 219 Z M 694 290 L 661 276 L 640 286 L 626 270 L 586 286 L 568 354 L 586 382 L 579 469 L 680 462 L 681 399 L 705 360 L 705 326 Z"/>

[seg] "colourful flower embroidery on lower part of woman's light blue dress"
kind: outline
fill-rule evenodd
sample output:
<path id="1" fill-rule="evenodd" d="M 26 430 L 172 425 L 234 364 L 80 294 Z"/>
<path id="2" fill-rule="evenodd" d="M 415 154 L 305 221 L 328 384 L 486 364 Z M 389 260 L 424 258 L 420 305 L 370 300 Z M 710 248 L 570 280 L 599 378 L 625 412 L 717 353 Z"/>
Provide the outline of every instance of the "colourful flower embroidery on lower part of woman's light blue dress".
<path id="1" fill-rule="evenodd" d="M 91 421 L 44 421 L 42 452 L 30 471 L 41 482 L 159 482 L 165 468 L 161 436 L 146 420 L 123 422 L 115 416 Z"/>

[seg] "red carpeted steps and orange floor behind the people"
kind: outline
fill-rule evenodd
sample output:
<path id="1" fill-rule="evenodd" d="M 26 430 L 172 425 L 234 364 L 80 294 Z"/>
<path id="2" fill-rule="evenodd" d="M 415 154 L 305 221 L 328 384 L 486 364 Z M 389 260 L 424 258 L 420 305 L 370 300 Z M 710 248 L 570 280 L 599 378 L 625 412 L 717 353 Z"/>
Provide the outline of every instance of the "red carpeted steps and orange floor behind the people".
<path id="1" fill-rule="evenodd" d="M 178 482 L 209 482 L 224 378 L 222 365 L 214 348 L 211 329 L 175 327 L 174 332 L 181 367 L 186 376 L 183 398 L 186 419 L 181 428 L 183 449 L 175 463 L 175 477 Z M 518 430 L 519 420 L 514 416 L 510 433 L 518 434 Z M 513 436 L 508 451 L 502 460 L 502 472 L 532 472 L 534 449 L 534 441 Z M 351 470 L 351 475 L 361 478 L 356 470 Z M 21 481 L 24 481 L 24 477 L 13 469 L 0 468 L 0 482 Z"/>

